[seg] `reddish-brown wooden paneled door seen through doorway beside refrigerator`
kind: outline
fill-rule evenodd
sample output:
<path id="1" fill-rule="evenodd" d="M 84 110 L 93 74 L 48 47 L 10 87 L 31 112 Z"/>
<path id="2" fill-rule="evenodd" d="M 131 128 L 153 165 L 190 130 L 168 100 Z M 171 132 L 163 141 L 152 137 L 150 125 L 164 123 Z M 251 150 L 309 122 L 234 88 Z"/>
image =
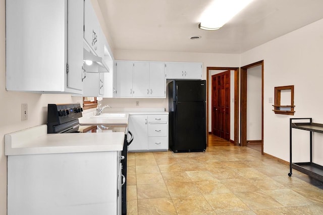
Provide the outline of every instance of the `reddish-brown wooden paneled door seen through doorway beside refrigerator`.
<path id="1" fill-rule="evenodd" d="M 230 140 L 230 71 L 212 76 L 212 133 Z"/>

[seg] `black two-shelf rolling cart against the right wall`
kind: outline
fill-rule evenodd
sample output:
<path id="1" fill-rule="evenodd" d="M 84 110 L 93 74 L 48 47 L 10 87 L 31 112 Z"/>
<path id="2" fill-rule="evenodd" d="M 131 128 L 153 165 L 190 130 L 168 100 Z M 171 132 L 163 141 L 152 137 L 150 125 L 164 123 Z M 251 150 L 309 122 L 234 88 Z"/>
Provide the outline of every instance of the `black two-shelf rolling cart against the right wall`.
<path id="1" fill-rule="evenodd" d="M 295 122 L 297 120 L 308 122 Z M 292 163 L 292 128 L 309 131 L 309 147 L 310 147 L 310 160 L 303 163 Z M 323 133 L 323 124 L 313 123 L 312 118 L 290 118 L 290 172 L 288 176 L 292 176 L 292 169 L 298 170 L 306 175 L 323 181 L 323 167 L 312 162 L 312 133 Z"/>

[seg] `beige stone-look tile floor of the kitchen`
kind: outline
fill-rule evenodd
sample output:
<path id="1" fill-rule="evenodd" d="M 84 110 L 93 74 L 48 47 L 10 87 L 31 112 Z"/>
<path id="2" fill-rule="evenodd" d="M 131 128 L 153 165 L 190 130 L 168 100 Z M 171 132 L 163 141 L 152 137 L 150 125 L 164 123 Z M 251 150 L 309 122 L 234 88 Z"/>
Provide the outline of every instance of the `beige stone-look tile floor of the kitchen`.
<path id="1" fill-rule="evenodd" d="M 323 214 L 323 183 L 246 147 L 128 154 L 127 214 Z"/>

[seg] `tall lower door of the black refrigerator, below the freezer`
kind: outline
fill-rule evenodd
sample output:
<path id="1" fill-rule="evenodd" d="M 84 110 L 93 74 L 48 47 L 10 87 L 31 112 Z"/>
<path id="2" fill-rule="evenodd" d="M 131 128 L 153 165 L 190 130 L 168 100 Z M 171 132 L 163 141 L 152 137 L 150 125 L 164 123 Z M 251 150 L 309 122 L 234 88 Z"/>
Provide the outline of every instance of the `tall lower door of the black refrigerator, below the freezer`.
<path id="1" fill-rule="evenodd" d="M 174 102 L 174 152 L 206 149 L 205 102 Z"/>

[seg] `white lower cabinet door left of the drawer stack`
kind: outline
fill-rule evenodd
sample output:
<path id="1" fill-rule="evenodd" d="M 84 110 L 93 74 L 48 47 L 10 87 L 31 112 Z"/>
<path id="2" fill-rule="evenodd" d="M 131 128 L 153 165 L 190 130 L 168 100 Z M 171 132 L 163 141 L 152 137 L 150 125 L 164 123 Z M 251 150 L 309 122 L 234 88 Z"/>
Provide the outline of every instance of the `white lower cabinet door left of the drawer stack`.
<path id="1" fill-rule="evenodd" d="M 128 151 L 148 150 L 148 117 L 146 115 L 130 115 L 129 131 L 133 134 L 133 141 Z"/>

